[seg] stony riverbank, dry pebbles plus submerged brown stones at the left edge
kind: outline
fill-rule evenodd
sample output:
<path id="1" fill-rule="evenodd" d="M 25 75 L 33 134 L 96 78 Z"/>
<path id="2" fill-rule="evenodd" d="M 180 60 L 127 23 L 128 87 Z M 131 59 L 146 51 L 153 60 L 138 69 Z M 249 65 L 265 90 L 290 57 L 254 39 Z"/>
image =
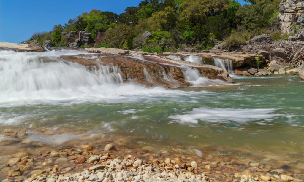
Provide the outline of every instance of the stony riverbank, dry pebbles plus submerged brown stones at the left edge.
<path id="1" fill-rule="evenodd" d="M 18 138 L 23 134 L 19 132 L 19 128 L 4 127 L 1 130 L 2 138 Z M 44 129 L 44 132 L 47 130 Z M 192 149 L 192 152 L 154 153 L 153 147 L 131 147 L 127 144 L 129 142 L 126 137 L 120 136 L 113 140 L 91 139 L 85 142 L 88 144 L 69 143 L 58 148 L 23 139 L 18 149 L 11 148 L 7 151 L 9 144 L 2 141 L 1 179 L 31 182 L 35 180 L 245 182 L 249 179 L 249 181 L 300 182 L 304 177 L 301 167 L 294 170 L 291 161 L 288 162 L 289 167 L 284 165 L 278 167 L 267 164 L 269 160 L 257 162 L 257 158 L 253 160 L 252 155 L 249 159 L 227 155 L 226 152 L 220 154 L 221 149 L 212 147 L 205 147 L 204 150 Z M 14 142 L 10 145 L 12 144 Z M 275 155 L 268 153 L 268 159 L 271 158 L 274 159 Z"/>

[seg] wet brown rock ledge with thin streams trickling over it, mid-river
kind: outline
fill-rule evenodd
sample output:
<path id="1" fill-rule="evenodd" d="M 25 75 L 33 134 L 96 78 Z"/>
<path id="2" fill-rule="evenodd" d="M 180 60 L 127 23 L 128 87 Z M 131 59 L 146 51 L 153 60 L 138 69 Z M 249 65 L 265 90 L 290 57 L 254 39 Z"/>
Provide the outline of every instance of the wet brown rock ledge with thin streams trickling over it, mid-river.
<path id="1" fill-rule="evenodd" d="M 220 79 L 229 83 L 233 80 L 226 70 L 212 65 L 199 65 L 184 61 L 166 60 L 159 56 L 115 55 L 109 53 L 93 55 L 60 56 L 70 62 L 78 62 L 88 69 L 103 66 L 118 66 L 124 82 L 136 82 L 148 86 L 164 87 L 192 86 L 185 80 L 184 66 L 195 68 L 201 76 L 209 79 Z"/>

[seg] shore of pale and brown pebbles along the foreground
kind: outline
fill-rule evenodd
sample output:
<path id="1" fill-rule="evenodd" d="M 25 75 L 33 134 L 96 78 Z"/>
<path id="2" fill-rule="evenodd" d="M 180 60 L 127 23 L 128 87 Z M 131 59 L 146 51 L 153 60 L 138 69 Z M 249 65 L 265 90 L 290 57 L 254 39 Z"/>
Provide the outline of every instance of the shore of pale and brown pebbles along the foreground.
<path id="1" fill-rule="evenodd" d="M 32 156 L 19 152 L 8 163 L 1 164 L 1 179 L 6 182 L 303 181 L 302 174 L 286 173 L 283 169 L 272 169 L 256 162 L 248 163 L 247 168 L 240 170 L 236 167 L 240 162 L 235 160 L 185 162 L 182 157 L 171 156 L 142 160 L 130 154 L 120 154 L 112 144 L 100 150 L 92 145 L 81 145 L 78 149 L 66 148 Z M 63 165 L 63 162 L 69 165 Z"/>

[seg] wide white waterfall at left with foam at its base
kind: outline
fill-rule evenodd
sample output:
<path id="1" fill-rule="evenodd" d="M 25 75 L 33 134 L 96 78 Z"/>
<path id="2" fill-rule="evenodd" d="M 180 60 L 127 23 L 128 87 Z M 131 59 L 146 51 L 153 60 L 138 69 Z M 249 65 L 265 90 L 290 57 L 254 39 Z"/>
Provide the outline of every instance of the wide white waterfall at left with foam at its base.
<path id="1" fill-rule="evenodd" d="M 117 66 L 98 65 L 98 69 L 90 71 L 83 65 L 60 59 L 60 55 L 76 54 L 89 53 L 75 50 L 1 51 L 1 105 L 123 103 L 187 94 L 161 87 L 147 88 L 123 83 Z M 145 76 L 147 80 L 152 80 L 148 73 Z"/>

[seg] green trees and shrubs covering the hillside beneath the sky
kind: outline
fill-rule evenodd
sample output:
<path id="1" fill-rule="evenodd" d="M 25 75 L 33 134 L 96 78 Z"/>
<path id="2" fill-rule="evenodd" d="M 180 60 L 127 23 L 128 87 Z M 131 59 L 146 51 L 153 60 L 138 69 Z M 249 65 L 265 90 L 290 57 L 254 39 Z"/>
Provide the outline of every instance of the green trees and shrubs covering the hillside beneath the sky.
<path id="1" fill-rule="evenodd" d="M 31 40 L 42 44 L 53 40 L 55 46 L 66 46 L 62 31 L 91 32 L 98 47 L 141 48 L 147 52 L 174 52 L 192 47 L 212 48 L 216 41 L 240 45 L 254 35 L 267 32 L 277 23 L 280 0 L 246 0 L 243 6 L 235 0 L 144 0 L 127 7 L 117 15 L 92 10 L 55 25 L 51 32 L 37 32 Z M 149 38 L 145 31 L 151 32 Z"/>

